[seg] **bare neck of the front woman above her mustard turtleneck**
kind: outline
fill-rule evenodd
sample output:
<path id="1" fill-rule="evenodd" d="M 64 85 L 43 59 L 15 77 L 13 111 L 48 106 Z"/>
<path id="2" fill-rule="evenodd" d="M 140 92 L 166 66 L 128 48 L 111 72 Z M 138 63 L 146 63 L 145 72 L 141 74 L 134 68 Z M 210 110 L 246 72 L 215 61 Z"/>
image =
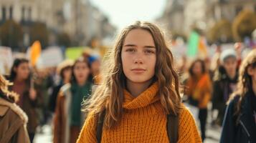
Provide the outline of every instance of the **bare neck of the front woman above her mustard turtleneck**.
<path id="1" fill-rule="evenodd" d="M 127 86 L 128 92 L 130 92 L 131 95 L 133 95 L 133 97 L 138 97 L 139 94 L 141 94 L 146 89 L 148 89 L 151 82 L 152 82 L 152 79 L 149 80 L 148 82 L 143 82 L 143 83 L 138 83 L 138 82 L 136 83 L 128 80 L 126 82 L 126 86 Z"/>

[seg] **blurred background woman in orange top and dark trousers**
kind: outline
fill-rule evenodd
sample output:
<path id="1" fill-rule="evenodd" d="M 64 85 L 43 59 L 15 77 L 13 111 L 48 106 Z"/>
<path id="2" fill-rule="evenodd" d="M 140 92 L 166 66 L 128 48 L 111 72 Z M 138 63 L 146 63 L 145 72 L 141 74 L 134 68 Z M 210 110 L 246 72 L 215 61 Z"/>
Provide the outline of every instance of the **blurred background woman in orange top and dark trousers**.
<path id="1" fill-rule="evenodd" d="M 189 103 L 199 108 L 201 136 L 204 141 L 207 125 L 207 104 L 211 99 L 212 83 L 203 60 L 196 59 L 191 64 L 186 87 L 188 89 L 185 90 L 185 94 L 189 97 Z"/>

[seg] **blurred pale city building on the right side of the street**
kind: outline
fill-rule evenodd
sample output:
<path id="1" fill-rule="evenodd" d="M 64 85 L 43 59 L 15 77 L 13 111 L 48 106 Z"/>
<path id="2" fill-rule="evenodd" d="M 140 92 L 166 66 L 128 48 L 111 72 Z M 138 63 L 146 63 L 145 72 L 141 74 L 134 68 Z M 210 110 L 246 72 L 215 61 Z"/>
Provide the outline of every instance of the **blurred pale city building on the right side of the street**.
<path id="1" fill-rule="evenodd" d="M 210 29 L 217 21 L 232 22 L 243 9 L 256 11 L 255 0 L 169 0 L 163 15 L 156 19 L 173 33 L 189 34 L 196 28 Z"/>

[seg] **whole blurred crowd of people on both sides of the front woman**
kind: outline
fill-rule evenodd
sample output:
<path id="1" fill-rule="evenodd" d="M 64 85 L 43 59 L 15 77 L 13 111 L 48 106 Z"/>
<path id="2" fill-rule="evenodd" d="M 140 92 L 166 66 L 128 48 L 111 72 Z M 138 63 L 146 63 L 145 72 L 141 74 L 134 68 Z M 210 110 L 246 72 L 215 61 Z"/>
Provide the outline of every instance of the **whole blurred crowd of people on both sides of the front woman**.
<path id="1" fill-rule="evenodd" d="M 250 116 L 246 109 L 235 107 L 246 104 L 245 108 L 250 108 L 252 113 L 254 112 L 256 122 L 255 97 L 250 96 L 252 90 L 254 91 L 252 81 L 256 78 L 256 52 L 252 49 L 252 54 L 246 54 L 244 58 L 241 54 L 242 50 L 244 49 L 240 43 L 234 44 L 234 49 L 225 49 L 217 45 L 211 59 L 193 59 L 193 62 L 188 63 L 189 60 L 184 57 L 183 64 L 176 65 L 184 89 L 184 102 L 199 110 L 199 127 L 203 141 L 207 137 L 208 115 L 212 115 L 212 127 L 223 126 L 224 134 L 221 142 L 236 139 L 235 134 L 230 133 L 232 129 L 234 130 L 232 124 L 241 124 L 241 122 L 239 119 L 234 121 L 232 118 L 234 113 L 240 119 L 244 117 L 243 114 Z M 30 142 L 33 142 L 34 135 L 40 132 L 44 124 L 52 124 L 53 142 L 75 142 L 86 116 L 81 112 L 82 102 L 100 83 L 100 64 L 100 57 L 87 52 L 75 61 L 66 59 L 57 67 L 49 69 L 31 68 L 29 60 L 15 59 L 11 73 L 5 77 L 9 82 L 1 77 L 1 98 L 15 102 L 27 114 L 28 120 L 26 115 L 20 115 L 22 123 L 28 122 L 27 127 L 19 128 L 18 134 L 23 134 L 24 137 L 17 135 L 16 139 L 29 137 Z M 3 88 L 2 82 L 6 83 L 3 84 Z M 237 86 L 238 82 L 241 85 Z M 19 96 L 16 94 L 6 96 L 9 95 L 9 92 L 5 92 L 7 86 L 8 90 L 13 92 L 10 95 L 15 92 Z M 232 97 L 234 92 L 237 94 Z M 228 109 L 227 102 L 231 103 Z M 241 136 L 251 137 L 255 134 L 255 130 L 250 127 L 250 122 L 253 124 L 253 121 L 245 120 L 246 123 L 242 120 L 240 128 L 245 128 L 247 132 L 245 134 L 240 130 Z M 26 131 L 28 134 L 25 133 Z"/>

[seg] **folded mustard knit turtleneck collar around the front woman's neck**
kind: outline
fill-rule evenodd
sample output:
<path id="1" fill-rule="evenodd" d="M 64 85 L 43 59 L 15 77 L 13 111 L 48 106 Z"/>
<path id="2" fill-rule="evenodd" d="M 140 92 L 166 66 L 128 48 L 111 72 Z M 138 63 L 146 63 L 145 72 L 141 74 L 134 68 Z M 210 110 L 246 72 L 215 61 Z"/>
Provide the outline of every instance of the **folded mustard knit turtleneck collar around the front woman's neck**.
<path id="1" fill-rule="evenodd" d="M 157 95 L 158 92 L 158 84 L 155 82 L 148 87 L 146 91 L 142 92 L 138 95 L 138 97 L 133 97 L 127 90 L 124 89 L 124 109 L 138 109 L 141 107 L 146 107 L 160 99 Z"/>

